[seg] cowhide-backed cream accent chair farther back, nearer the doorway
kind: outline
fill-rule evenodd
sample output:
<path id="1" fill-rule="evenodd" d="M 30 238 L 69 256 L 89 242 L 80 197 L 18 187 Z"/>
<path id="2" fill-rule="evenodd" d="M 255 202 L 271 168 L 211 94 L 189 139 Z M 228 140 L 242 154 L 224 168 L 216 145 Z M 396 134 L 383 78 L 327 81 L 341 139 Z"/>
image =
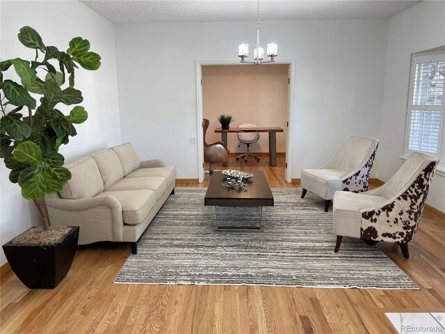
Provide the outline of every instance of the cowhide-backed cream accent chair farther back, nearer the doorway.
<path id="1" fill-rule="evenodd" d="M 301 171 L 301 198 L 308 190 L 315 193 L 324 198 L 327 212 L 335 191 L 367 191 L 377 148 L 377 139 L 351 136 L 329 164 Z"/>

